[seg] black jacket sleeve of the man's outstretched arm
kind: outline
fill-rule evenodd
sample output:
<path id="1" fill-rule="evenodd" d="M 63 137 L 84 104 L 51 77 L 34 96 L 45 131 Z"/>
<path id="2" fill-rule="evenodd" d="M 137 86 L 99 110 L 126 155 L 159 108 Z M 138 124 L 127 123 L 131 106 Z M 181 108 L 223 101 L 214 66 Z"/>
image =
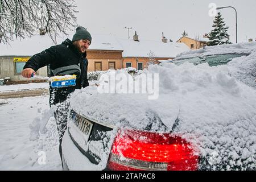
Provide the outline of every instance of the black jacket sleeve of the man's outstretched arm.
<path id="1" fill-rule="evenodd" d="M 24 68 L 32 68 L 34 71 L 38 71 L 39 68 L 45 67 L 48 64 L 53 63 L 56 60 L 58 51 L 56 46 L 52 46 L 45 51 L 37 53 L 32 56 L 27 63 L 24 65 Z"/>

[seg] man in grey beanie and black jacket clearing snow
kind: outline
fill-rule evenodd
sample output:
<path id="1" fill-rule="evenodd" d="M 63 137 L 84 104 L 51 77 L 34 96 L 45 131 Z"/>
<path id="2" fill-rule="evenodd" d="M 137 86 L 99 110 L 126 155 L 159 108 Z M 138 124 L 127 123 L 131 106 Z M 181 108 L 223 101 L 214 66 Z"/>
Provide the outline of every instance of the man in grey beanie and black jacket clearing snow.
<path id="1" fill-rule="evenodd" d="M 51 69 L 51 76 L 60 75 L 58 71 L 63 69 L 71 70 L 72 67 L 80 67 L 81 73 L 78 73 L 76 79 L 76 86 L 69 86 L 64 88 L 52 88 L 49 86 L 50 106 L 56 105 L 55 120 L 57 130 L 60 135 L 60 158 L 62 160 L 61 142 L 65 130 L 67 129 L 67 117 L 69 101 L 67 98 L 69 94 L 75 89 L 81 89 L 88 86 L 87 67 L 88 60 L 86 59 L 86 50 L 92 42 L 92 36 L 84 27 L 76 28 L 76 33 L 73 35 L 72 41 L 66 39 L 62 44 L 52 46 L 45 51 L 32 56 L 24 65 L 22 76 L 30 78 L 33 73 L 38 71 L 46 65 Z M 71 75 L 71 74 L 69 74 Z"/>

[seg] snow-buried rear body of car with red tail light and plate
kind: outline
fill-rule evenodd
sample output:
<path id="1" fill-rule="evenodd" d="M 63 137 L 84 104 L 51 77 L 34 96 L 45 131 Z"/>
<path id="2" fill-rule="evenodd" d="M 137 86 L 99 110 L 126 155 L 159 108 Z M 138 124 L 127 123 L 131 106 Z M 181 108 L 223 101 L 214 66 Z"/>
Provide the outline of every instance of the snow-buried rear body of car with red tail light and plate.
<path id="1" fill-rule="evenodd" d="M 247 53 L 236 59 L 255 64 L 255 52 Z M 63 137 L 64 168 L 256 170 L 256 90 L 231 72 L 235 67 L 207 63 L 150 65 L 133 77 L 123 73 L 127 79 L 116 71 L 101 80 L 113 93 L 97 86 L 76 90 Z M 143 82 L 120 92 L 120 85 L 143 78 L 154 80 L 157 98 L 135 92 Z"/>

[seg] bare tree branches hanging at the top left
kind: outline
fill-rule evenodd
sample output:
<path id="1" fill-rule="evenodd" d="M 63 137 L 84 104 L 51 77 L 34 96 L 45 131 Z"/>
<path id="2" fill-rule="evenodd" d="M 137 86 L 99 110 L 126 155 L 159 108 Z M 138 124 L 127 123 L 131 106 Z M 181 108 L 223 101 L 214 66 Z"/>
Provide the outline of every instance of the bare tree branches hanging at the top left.
<path id="1" fill-rule="evenodd" d="M 74 0 L 0 0 L 0 43 L 35 35 L 46 30 L 54 41 L 73 30 Z"/>

